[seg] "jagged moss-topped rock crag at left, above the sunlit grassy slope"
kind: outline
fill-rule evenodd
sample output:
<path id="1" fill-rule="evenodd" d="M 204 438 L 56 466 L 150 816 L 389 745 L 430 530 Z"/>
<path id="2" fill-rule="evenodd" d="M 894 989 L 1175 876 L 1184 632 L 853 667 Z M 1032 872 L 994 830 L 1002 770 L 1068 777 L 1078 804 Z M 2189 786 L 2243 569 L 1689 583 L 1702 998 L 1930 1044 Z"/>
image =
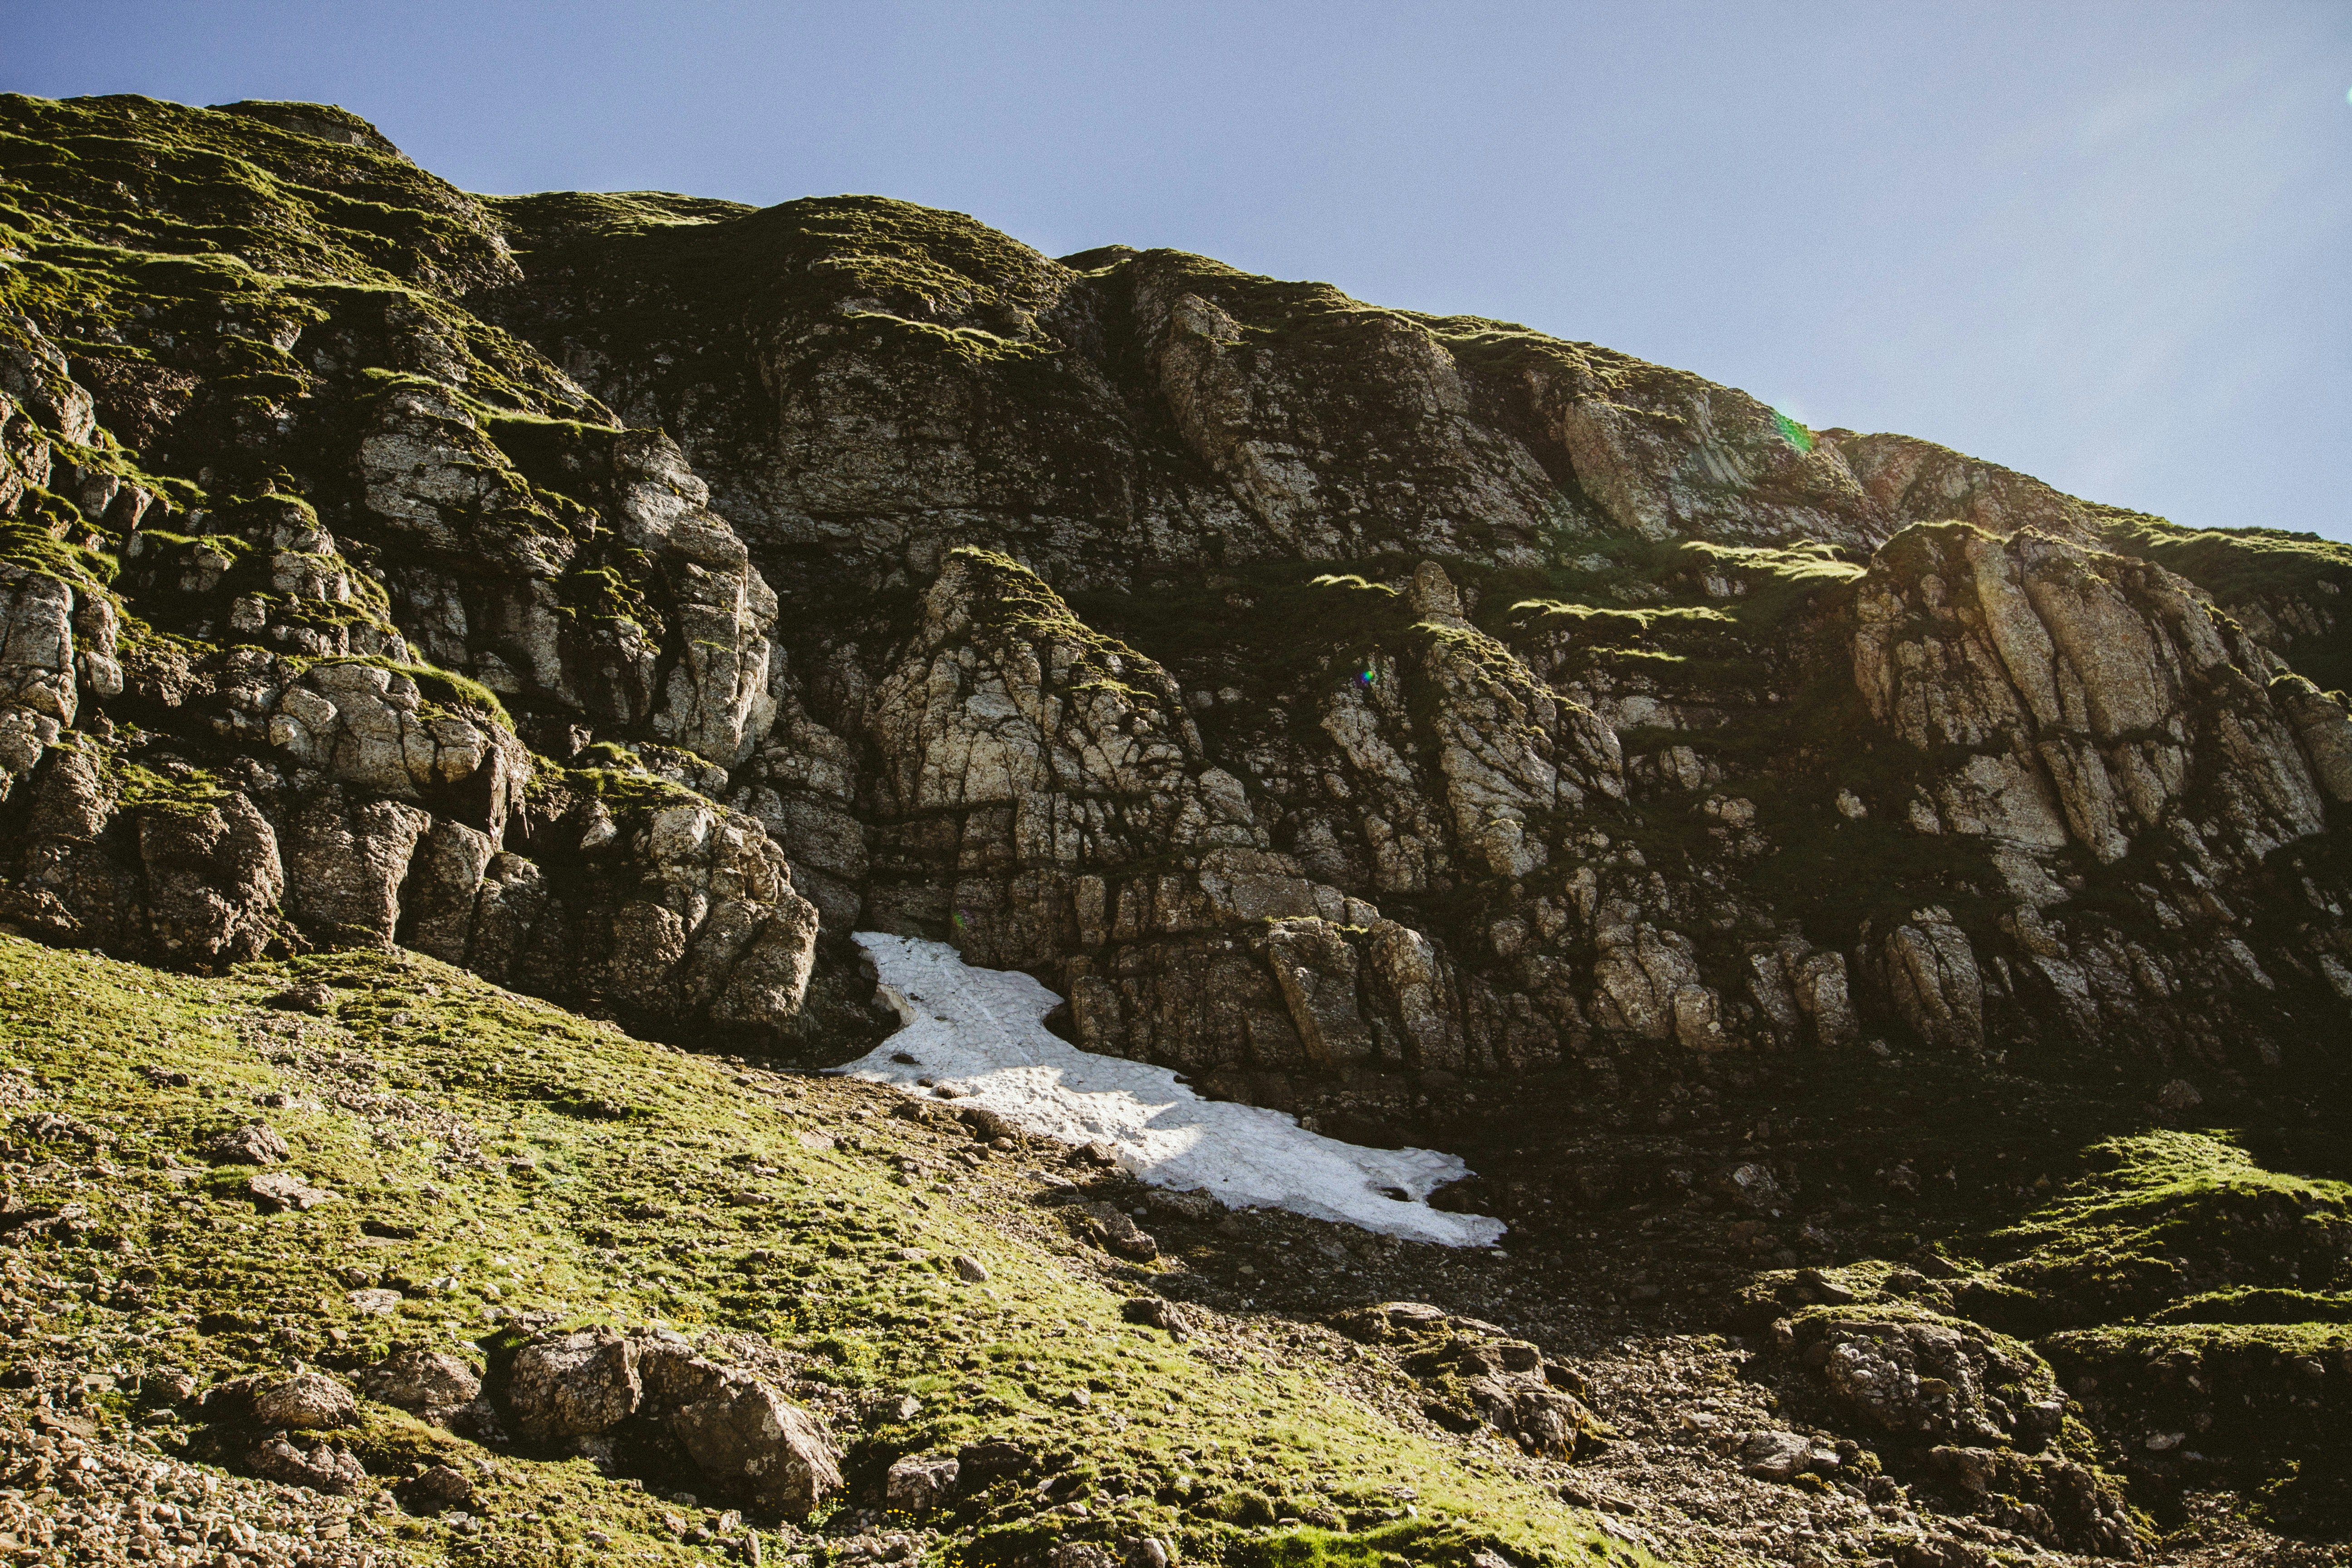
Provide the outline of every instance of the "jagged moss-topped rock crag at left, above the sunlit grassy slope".
<path id="1" fill-rule="evenodd" d="M 12 268 L 9 919 L 176 964 L 400 940 L 807 1027 L 816 910 L 696 788 L 774 724 L 776 597 L 673 442 L 466 315 L 517 277 L 480 202 L 334 115 L 14 108 L 24 244 L 132 188 L 101 167 L 160 233 Z"/>

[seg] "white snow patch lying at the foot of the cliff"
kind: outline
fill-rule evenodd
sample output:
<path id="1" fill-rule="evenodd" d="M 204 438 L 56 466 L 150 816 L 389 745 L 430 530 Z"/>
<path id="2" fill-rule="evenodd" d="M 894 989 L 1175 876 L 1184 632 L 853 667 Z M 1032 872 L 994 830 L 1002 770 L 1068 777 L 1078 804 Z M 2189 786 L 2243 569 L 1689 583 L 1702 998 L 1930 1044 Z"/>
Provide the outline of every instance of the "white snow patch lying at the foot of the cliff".
<path id="1" fill-rule="evenodd" d="M 1454 1154 L 1367 1150 L 1282 1112 L 1202 1100 L 1167 1067 L 1080 1051 L 1047 1030 L 1061 997 L 1025 973 L 971 969 L 948 943 L 875 931 L 856 943 L 908 1020 L 849 1063 L 861 1079 L 913 1093 L 931 1079 L 962 1091 L 957 1105 L 985 1105 L 1063 1143 L 1115 1145 L 1138 1180 L 1204 1190 L 1228 1208 L 1289 1208 L 1442 1246 L 1494 1246 L 1503 1234 L 1501 1220 L 1428 1206 L 1430 1192 L 1470 1173 Z"/>

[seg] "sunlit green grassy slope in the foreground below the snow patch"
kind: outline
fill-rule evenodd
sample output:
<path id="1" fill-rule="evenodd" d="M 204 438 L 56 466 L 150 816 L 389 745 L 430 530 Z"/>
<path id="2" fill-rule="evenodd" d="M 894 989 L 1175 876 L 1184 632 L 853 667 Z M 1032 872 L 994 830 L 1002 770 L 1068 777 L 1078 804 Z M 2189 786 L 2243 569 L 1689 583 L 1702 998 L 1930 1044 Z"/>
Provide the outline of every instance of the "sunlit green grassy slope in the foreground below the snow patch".
<path id="1" fill-rule="evenodd" d="M 1350 1561 L 1465 1561 L 1489 1542 L 1526 1561 L 1639 1559 L 1548 1495 L 1541 1462 L 1383 1408 L 1411 1382 L 1336 1335 L 1284 1345 L 1200 1307 L 1174 1342 L 1124 1321 L 1160 1269 L 1091 1253 L 1061 1218 L 1131 1185 L 1040 1173 L 1028 1161 L 1049 1150 L 990 1150 L 946 1112 L 894 1117 L 894 1091 L 680 1056 L 397 954 L 205 980 L 0 938 L 0 1086 L 26 1138 L 0 1215 L 16 1248 L 9 1387 L 42 1399 L 0 1443 L 9 1486 L 59 1481 L 59 1514 L 89 1509 L 92 1486 L 71 1455 L 42 1467 L 40 1422 L 108 1465 L 191 1455 L 355 1497 L 325 1514 L 350 1530 L 313 1547 L 327 1561 L 362 1544 L 388 1561 L 741 1556 L 746 1526 L 708 1535 L 741 1497 L 691 1453 L 607 1446 L 588 1462 L 499 1432 L 501 1410 L 517 1422 L 510 1392 L 452 1415 L 367 1378 L 412 1345 L 473 1373 L 487 1359 L 499 1396 L 532 1335 L 656 1324 L 828 1420 L 851 1495 L 816 1521 L 753 1505 L 769 1549 L 856 1561 L 913 1528 L 927 1552 L 983 1561 L 1040 1535 L 1291 1561 L 1338 1530 Z M 103 1065 L 94 1037 L 115 1041 Z M 219 1133 L 247 1126 L 285 1152 L 223 1159 Z M 310 1197 L 268 1197 L 287 1175 Z M 978 1260 L 985 1284 L 950 1258 Z M 296 1450 L 353 1455 L 348 1476 L 273 1458 L 254 1436 L 270 1422 L 238 1408 L 238 1378 L 303 1366 L 372 1394 L 341 1425 L 292 1432 Z M 1018 1474 L 884 1519 L 891 1460 L 983 1441 L 1018 1448 Z M 440 1500 L 454 1507 L 414 1479 L 435 1465 L 466 1479 Z M 710 1507 L 680 1512 L 673 1490 Z M 1268 1497 L 1294 1516 L 1282 1533 L 1249 1528 L 1275 1523 L 1254 1514 Z M 1418 1497 L 1411 1516 L 1399 1497 Z M 24 1549 L 54 1533 L 0 1516 L 9 1528 Z"/>

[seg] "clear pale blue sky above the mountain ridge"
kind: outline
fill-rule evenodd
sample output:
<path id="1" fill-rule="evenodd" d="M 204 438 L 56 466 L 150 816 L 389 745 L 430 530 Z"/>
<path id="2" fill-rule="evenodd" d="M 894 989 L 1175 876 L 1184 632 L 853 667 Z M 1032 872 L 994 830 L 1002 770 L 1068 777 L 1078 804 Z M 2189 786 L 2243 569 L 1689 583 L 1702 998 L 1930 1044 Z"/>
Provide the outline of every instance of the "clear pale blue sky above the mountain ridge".
<path id="1" fill-rule="evenodd" d="M 0 0 L 0 89 L 327 99 L 473 190 L 873 190 L 2352 538 L 2352 2 Z"/>

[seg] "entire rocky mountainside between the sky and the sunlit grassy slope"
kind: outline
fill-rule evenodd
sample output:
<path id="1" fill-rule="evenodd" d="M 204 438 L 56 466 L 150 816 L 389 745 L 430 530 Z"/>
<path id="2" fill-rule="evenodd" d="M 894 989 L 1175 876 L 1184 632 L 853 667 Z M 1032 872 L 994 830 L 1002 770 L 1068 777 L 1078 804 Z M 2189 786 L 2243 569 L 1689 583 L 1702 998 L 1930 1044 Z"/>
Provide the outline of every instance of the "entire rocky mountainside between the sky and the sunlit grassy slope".
<path id="1" fill-rule="evenodd" d="M 1470 1154 L 1526 1295 L 1743 1326 L 1844 1436 L 1724 1453 L 1858 1519 L 1879 1453 L 1994 1544 L 2140 1552 L 2093 1460 L 2345 1514 L 2347 583 L 1197 256 L 0 99 L 0 922 L 800 1065 L 896 1018 L 851 931 L 946 938 Z M 1378 1312 L 1529 1439 L 1496 1291 Z"/>

